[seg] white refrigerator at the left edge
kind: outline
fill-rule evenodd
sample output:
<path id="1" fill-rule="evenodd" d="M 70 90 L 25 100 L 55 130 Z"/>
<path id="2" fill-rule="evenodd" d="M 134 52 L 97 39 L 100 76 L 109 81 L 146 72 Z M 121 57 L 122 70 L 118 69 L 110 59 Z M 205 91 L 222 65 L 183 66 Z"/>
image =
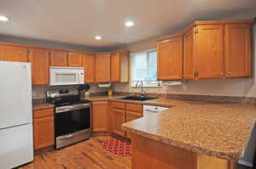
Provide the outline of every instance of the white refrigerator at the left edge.
<path id="1" fill-rule="evenodd" d="M 0 168 L 33 161 L 30 63 L 0 61 Z"/>

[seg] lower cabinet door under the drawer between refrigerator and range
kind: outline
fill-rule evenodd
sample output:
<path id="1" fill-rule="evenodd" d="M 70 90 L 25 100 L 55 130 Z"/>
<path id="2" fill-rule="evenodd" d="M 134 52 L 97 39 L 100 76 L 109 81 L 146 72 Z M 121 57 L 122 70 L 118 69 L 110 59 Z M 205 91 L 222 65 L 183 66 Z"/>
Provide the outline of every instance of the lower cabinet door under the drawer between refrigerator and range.
<path id="1" fill-rule="evenodd" d="M 35 118 L 34 149 L 43 149 L 55 144 L 54 116 Z"/>

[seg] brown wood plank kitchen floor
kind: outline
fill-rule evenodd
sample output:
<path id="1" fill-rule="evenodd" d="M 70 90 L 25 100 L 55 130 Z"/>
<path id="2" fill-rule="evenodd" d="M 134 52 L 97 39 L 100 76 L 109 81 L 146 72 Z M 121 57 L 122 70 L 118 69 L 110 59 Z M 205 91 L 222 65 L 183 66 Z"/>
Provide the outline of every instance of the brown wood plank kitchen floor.
<path id="1" fill-rule="evenodd" d="M 131 169 L 131 156 L 120 157 L 102 149 L 111 137 L 95 137 L 60 150 L 36 155 L 35 160 L 19 169 Z M 238 169 L 250 169 L 239 166 Z"/>

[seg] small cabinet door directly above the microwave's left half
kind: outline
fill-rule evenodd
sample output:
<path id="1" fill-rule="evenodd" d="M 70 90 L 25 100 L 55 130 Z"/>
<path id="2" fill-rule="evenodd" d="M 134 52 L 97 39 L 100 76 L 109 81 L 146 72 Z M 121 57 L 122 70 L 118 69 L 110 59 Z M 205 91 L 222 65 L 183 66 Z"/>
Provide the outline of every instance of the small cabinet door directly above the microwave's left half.
<path id="1" fill-rule="evenodd" d="M 67 66 L 67 52 L 61 50 L 50 51 L 50 65 Z"/>

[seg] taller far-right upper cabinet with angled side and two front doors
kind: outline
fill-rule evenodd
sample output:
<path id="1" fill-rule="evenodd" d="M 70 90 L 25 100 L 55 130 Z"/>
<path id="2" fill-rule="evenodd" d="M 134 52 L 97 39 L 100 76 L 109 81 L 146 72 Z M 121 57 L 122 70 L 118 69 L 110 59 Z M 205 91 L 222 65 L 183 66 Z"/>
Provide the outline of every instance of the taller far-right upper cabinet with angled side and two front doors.
<path id="1" fill-rule="evenodd" d="M 253 20 L 196 21 L 183 33 L 183 78 L 251 76 Z"/>

